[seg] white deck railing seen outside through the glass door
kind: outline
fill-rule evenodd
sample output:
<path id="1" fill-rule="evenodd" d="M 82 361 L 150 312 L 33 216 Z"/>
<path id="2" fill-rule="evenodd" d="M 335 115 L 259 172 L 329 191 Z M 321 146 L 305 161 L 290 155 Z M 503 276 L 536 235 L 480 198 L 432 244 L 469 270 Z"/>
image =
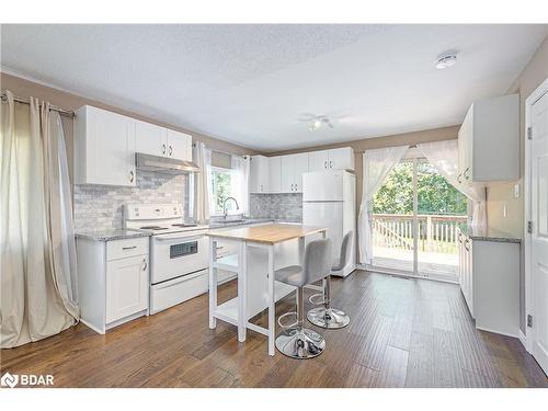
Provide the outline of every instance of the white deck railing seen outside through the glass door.
<path id="1" fill-rule="evenodd" d="M 419 250 L 456 253 L 457 226 L 467 216 L 419 215 Z M 373 246 L 401 250 L 413 249 L 413 216 L 399 214 L 373 215 Z"/>

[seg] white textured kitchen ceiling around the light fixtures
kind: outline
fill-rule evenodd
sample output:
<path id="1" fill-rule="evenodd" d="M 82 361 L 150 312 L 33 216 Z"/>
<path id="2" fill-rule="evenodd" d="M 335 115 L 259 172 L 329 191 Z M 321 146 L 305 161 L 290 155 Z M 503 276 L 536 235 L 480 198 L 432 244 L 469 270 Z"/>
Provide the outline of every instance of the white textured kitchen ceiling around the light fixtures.
<path id="1" fill-rule="evenodd" d="M 276 151 L 459 124 L 548 25 L 2 25 L 2 69 Z M 442 52 L 458 64 L 436 70 Z M 308 113 L 334 128 L 308 130 Z M 299 121 L 300 119 L 300 121 Z"/>

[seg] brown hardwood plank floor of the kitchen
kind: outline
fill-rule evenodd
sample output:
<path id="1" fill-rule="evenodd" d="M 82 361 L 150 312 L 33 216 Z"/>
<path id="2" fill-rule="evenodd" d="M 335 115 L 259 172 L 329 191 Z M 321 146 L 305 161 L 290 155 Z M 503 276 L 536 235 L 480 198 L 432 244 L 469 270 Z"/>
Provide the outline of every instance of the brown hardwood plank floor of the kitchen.
<path id="1" fill-rule="evenodd" d="M 219 301 L 235 295 L 219 288 Z M 53 374 L 57 387 L 548 387 L 520 341 L 476 330 L 456 285 L 356 271 L 333 296 L 351 323 L 317 329 L 327 350 L 313 359 L 271 357 L 265 336 L 238 343 L 222 321 L 209 330 L 204 295 L 106 335 L 78 324 L 2 350 L 0 368 Z M 293 308 L 293 295 L 276 306 Z"/>

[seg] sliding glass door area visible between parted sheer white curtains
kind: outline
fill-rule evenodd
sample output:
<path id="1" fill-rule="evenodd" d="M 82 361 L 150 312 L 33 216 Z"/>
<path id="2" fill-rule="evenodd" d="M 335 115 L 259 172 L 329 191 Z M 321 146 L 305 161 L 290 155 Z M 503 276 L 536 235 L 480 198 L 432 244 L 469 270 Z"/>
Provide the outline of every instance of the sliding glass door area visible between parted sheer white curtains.
<path id="1" fill-rule="evenodd" d="M 369 269 L 457 281 L 456 227 L 467 199 L 423 158 L 397 164 L 373 201 Z"/>

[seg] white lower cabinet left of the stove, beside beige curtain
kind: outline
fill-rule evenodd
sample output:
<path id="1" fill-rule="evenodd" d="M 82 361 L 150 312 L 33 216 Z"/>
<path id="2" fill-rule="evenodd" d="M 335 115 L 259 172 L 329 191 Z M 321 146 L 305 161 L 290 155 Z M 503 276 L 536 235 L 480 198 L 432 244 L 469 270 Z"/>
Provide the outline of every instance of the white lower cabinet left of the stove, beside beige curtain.
<path id="1" fill-rule="evenodd" d="M 81 321 L 106 330 L 148 315 L 149 239 L 96 241 L 78 238 Z"/>

